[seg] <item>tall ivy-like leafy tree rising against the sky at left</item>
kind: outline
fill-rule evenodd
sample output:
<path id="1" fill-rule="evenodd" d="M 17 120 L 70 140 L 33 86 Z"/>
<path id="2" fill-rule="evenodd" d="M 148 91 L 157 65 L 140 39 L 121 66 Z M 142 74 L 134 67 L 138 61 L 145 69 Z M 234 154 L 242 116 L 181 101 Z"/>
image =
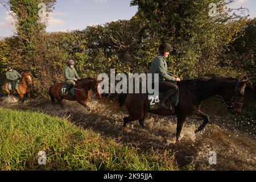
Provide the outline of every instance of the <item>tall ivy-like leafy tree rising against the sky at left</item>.
<path id="1" fill-rule="evenodd" d="M 36 65 L 34 56 L 39 42 L 39 36 L 44 32 L 46 23 L 39 17 L 39 4 L 46 5 L 46 11 L 51 11 L 56 0 L 9 0 L 10 10 L 15 13 L 15 26 L 18 34 L 18 51 L 23 63 Z M 28 66 L 32 69 L 32 66 Z"/>

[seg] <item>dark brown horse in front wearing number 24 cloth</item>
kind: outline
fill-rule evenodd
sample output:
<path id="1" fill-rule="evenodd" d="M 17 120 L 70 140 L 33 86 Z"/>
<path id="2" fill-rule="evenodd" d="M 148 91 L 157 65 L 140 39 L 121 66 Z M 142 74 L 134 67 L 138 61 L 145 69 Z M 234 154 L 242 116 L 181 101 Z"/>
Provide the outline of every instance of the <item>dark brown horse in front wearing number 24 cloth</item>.
<path id="1" fill-rule="evenodd" d="M 126 127 L 128 122 L 138 120 L 139 124 L 144 128 L 144 119 L 147 113 L 163 116 L 176 115 L 176 140 L 179 141 L 182 127 L 188 116 L 198 115 L 204 119 L 204 122 L 195 130 L 196 134 L 202 131 L 209 123 L 209 116 L 200 111 L 201 104 L 207 98 L 222 96 L 219 98 L 224 100 L 224 104 L 228 107 L 230 113 L 241 113 L 245 87 L 248 82 L 249 78 L 247 77 L 242 78 L 241 81 L 230 77 L 207 77 L 177 82 L 179 103 L 175 107 L 175 113 L 170 109 L 149 110 L 147 94 L 119 94 L 119 106 L 126 105 L 130 114 L 128 117 L 123 118 L 123 127 Z"/>

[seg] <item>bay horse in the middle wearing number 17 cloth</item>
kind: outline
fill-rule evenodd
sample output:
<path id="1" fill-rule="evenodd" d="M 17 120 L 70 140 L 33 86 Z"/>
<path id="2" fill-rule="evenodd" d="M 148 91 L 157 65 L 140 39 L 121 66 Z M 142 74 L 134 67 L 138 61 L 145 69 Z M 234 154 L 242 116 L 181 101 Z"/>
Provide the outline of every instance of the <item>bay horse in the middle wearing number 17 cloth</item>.
<path id="1" fill-rule="evenodd" d="M 49 96 L 51 97 L 52 105 L 62 105 L 63 99 L 69 100 L 69 101 L 77 101 L 79 104 L 84 106 L 88 111 L 90 111 L 90 107 L 86 105 L 86 102 L 90 98 L 90 89 L 94 93 L 96 93 L 96 98 L 101 98 L 100 93 L 100 81 L 94 79 L 94 78 L 84 78 L 81 80 L 76 81 L 75 85 L 75 95 L 71 96 L 70 94 L 67 94 L 67 96 L 61 95 L 61 88 L 64 85 L 64 83 L 58 83 L 51 88 L 49 88 Z"/>

